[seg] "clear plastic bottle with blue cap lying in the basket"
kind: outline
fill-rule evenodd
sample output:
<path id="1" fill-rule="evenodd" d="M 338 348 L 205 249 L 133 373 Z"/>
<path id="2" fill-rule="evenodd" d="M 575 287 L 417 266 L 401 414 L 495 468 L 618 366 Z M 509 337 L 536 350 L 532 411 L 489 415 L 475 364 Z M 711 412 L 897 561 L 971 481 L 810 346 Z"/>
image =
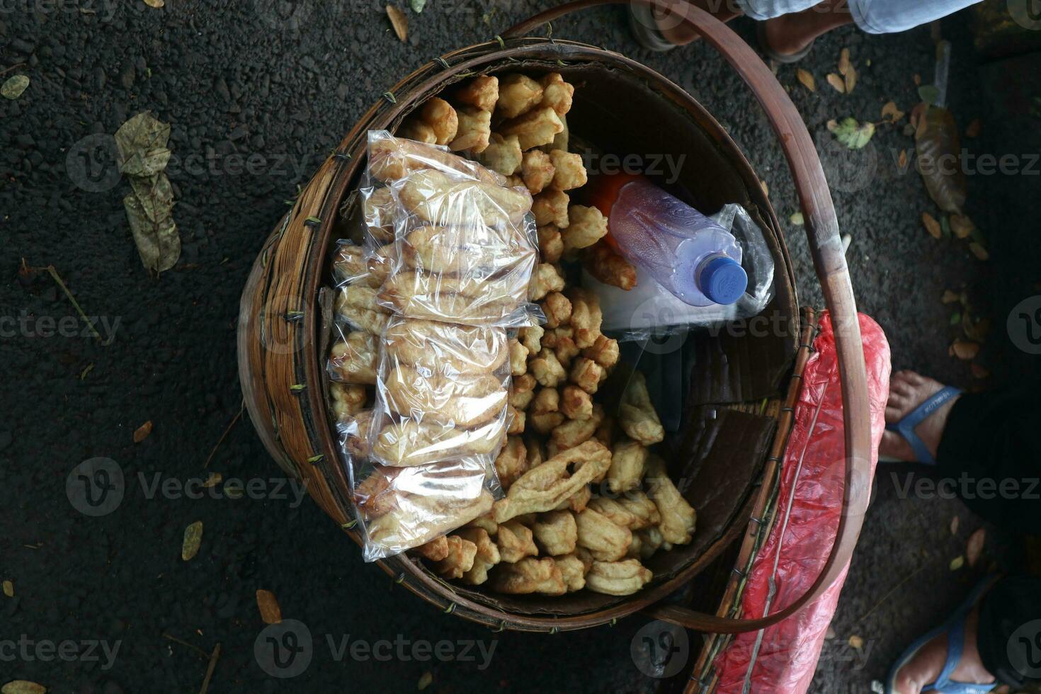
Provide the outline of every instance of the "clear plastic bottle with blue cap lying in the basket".
<path id="1" fill-rule="evenodd" d="M 690 306 L 726 306 L 744 294 L 741 247 L 729 231 L 643 177 L 612 178 L 596 203 L 631 263 Z"/>

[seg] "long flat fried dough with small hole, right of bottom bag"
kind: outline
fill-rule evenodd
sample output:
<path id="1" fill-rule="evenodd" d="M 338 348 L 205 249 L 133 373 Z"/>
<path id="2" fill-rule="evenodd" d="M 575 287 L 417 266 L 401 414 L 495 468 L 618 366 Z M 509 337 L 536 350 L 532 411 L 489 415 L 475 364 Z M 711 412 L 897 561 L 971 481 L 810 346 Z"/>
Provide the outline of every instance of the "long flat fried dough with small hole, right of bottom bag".
<path id="1" fill-rule="evenodd" d="M 581 466 L 569 472 L 568 466 L 575 463 Z M 610 464 L 610 452 L 595 441 L 564 451 L 513 483 L 506 497 L 496 502 L 496 521 L 502 523 L 525 513 L 551 511 L 605 472 Z"/>

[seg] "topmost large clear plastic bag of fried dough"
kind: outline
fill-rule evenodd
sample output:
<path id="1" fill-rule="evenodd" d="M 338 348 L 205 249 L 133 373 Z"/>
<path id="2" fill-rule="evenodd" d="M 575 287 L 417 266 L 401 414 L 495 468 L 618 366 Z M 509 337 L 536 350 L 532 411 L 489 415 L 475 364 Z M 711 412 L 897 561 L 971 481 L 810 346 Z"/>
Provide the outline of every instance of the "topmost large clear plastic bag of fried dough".
<path id="1" fill-rule="evenodd" d="M 538 263 L 531 194 L 500 174 L 431 145 L 369 133 L 369 176 L 395 203 L 393 250 L 379 291 L 383 308 L 410 318 L 465 325 L 530 325 Z M 382 216 L 380 221 L 382 222 Z"/>

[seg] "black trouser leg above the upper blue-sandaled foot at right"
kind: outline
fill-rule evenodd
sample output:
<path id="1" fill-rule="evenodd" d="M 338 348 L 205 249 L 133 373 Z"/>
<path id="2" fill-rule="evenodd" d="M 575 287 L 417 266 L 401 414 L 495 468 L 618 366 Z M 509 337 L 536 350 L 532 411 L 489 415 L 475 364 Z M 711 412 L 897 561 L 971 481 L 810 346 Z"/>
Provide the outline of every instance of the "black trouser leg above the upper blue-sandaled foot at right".
<path id="1" fill-rule="evenodd" d="M 1041 382 L 963 394 L 936 460 L 939 477 L 972 511 L 1008 531 L 1041 535 Z"/>

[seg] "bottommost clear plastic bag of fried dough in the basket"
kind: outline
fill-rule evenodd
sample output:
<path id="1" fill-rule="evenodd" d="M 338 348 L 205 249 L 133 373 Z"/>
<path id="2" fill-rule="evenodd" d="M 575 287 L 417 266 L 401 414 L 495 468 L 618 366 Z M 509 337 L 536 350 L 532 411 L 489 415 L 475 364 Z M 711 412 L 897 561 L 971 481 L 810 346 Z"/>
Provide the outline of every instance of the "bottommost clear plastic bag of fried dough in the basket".
<path id="1" fill-rule="evenodd" d="M 494 467 L 463 458 L 412 467 L 387 467 L 365 458 L 359 430 L 369 413 L 339 425 L 366 562 L 426 544 L 491 510 L 502 497 Z"/>

